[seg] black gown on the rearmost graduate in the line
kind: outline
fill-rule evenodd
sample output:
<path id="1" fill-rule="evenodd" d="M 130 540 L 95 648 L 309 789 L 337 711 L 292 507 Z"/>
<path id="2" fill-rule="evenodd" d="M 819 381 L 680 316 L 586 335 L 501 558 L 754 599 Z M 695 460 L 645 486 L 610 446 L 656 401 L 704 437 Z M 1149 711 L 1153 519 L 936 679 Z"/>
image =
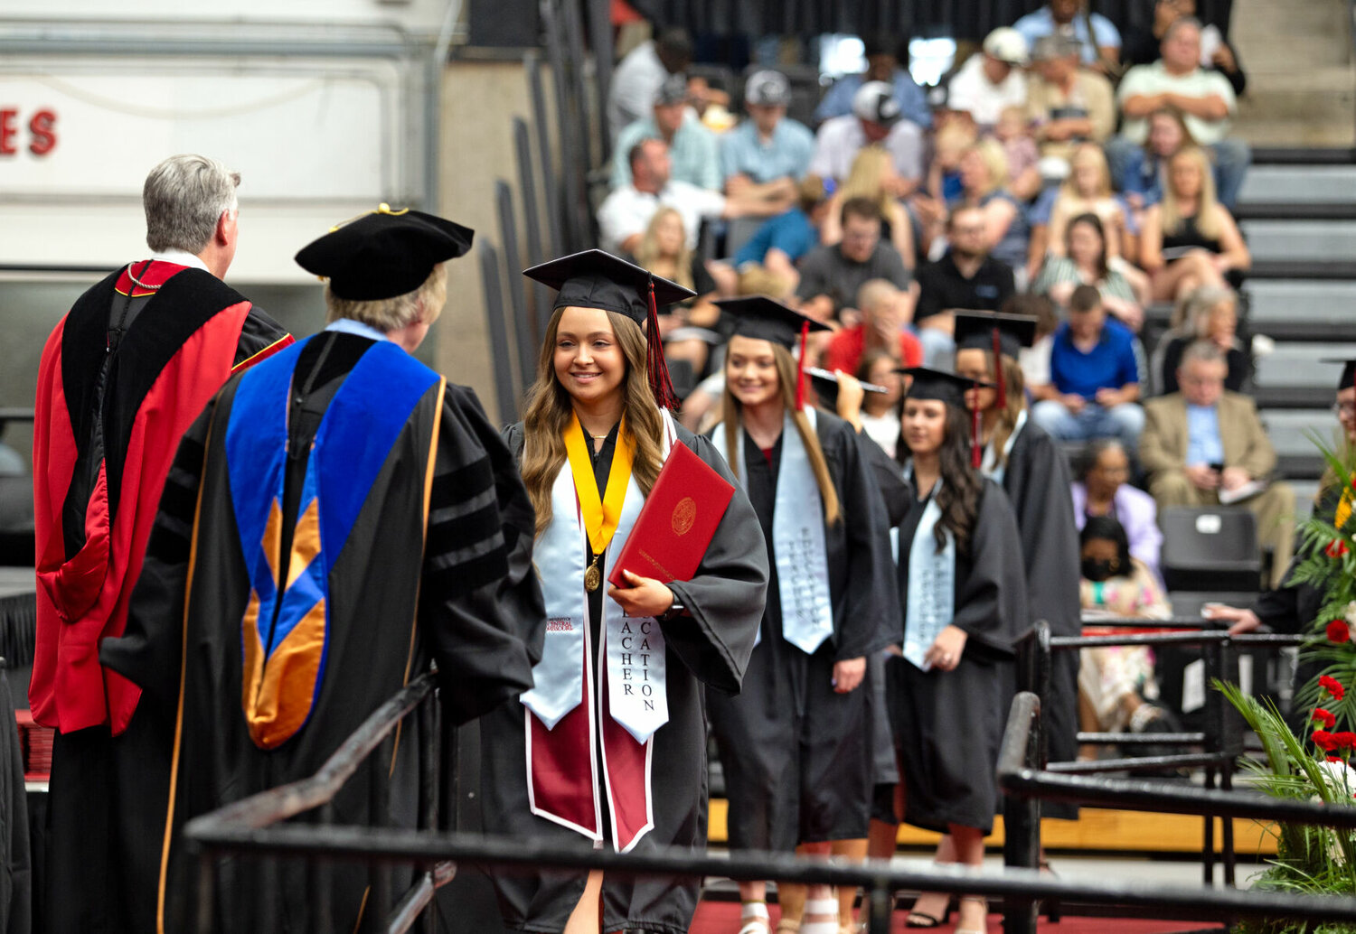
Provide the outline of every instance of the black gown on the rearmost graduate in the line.
<path id="1" fill-rule="evenodd" d="M 1069 464 L 1045 431 L 1031 419 L 1008 455 L 1003 491 L 1017 515 L 1026 567 L 1026 620 L 1045 620 L 1054 636 L 1079 636 L 1079 549 Z M 1025 626 L 1024 626 L 1025 628 Z M 1051 762 L 1078 758 L 1078 653 L 1056 652 L 1044 709 Z M 1078 805 L 1050 804 L 1047 817 L 1075 820 Z"/>

